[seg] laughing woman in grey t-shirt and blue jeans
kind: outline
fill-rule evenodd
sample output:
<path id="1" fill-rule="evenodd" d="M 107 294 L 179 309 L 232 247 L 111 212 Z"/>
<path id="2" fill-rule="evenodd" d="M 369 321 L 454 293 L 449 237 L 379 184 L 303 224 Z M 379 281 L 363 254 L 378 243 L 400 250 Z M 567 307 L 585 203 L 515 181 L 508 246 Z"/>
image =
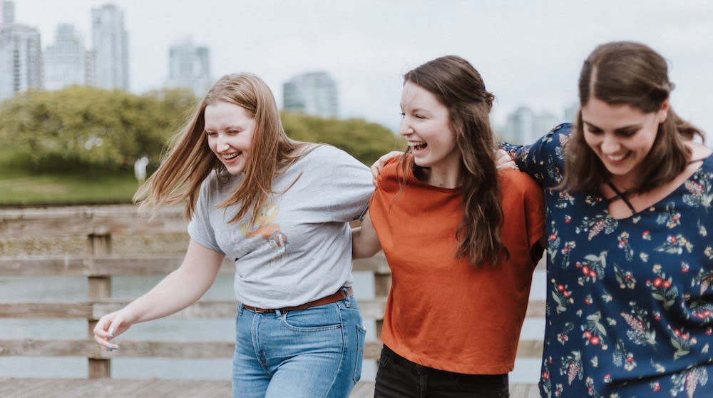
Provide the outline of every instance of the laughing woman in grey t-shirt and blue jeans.
<path id="1" fill-rule="evenodd" d="M 342 150 L 292 141 L 275 98 L 250 73 L 224 76 L 135 199 L 185 203 L 185 260 L 152 290 L 104 315 L 95 340 L 183 310 L 235 262 L 233 396 L 348 397 L 361 376 L 364 327 L 352 292 L 349 221 L 374 187 Z"/>

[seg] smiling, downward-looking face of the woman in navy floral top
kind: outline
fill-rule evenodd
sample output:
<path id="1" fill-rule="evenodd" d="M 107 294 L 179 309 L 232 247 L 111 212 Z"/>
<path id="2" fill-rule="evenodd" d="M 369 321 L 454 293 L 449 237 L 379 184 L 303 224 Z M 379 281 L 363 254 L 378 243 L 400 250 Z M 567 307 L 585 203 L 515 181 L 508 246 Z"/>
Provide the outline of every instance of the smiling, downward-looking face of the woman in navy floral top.
<path id="1" fill-rule="evenodd" d="M 620 188 L 635 185 L 667 111 L 667 101 L 659 111 L 651 113 L 629 105 L 611 105 L 597 98 L 590 98 L 582 107 L 585 141 Z"/>

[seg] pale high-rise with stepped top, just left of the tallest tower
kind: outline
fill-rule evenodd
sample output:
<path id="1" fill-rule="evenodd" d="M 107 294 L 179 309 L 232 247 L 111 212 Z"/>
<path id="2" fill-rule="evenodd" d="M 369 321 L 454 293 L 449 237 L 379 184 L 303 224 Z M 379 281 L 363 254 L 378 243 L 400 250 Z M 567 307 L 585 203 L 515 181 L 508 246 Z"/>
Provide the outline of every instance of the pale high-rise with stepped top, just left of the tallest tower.
<path id="1" fill-rule="evenodd" d="M 54 44 L 44 51 L 44 88 L 58 90 L 87 83 L 87 53 L 84 41 L 73 25 L 57 26 Z"/>

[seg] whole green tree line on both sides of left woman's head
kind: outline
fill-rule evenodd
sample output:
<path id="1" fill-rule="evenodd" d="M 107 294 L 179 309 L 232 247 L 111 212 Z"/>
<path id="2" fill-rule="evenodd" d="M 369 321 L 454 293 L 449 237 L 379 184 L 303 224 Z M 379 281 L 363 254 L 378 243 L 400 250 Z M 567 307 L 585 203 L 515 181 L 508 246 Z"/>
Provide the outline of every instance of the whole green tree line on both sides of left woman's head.
<path id="1" fill-rule="evenodd" d="M 91 174 L 128 171 L 148 155 L 153 168 L 197 103 L 183 89 L 142 96 L 86 86 L 21 93 L 0 103 L 0 163 L 35 174 Z M 402 138 L 361 119 L 282 113 L 282 121 L 292 138 L 337 146 L 366 165 L 404 148 Z"/>

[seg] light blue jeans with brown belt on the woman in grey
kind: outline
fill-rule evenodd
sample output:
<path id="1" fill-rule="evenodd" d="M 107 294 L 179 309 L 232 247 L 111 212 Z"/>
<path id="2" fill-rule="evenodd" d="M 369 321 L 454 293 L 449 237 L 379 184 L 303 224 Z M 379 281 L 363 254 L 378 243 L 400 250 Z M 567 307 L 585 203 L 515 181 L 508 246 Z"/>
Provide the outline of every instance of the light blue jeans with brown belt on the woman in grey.
<path id="1" fill-rule="evenodd" d="M 237 310 L 234 398 L 349 397 L 361 377 L 364 335 L 354 297 L 306 310 Z"/>

